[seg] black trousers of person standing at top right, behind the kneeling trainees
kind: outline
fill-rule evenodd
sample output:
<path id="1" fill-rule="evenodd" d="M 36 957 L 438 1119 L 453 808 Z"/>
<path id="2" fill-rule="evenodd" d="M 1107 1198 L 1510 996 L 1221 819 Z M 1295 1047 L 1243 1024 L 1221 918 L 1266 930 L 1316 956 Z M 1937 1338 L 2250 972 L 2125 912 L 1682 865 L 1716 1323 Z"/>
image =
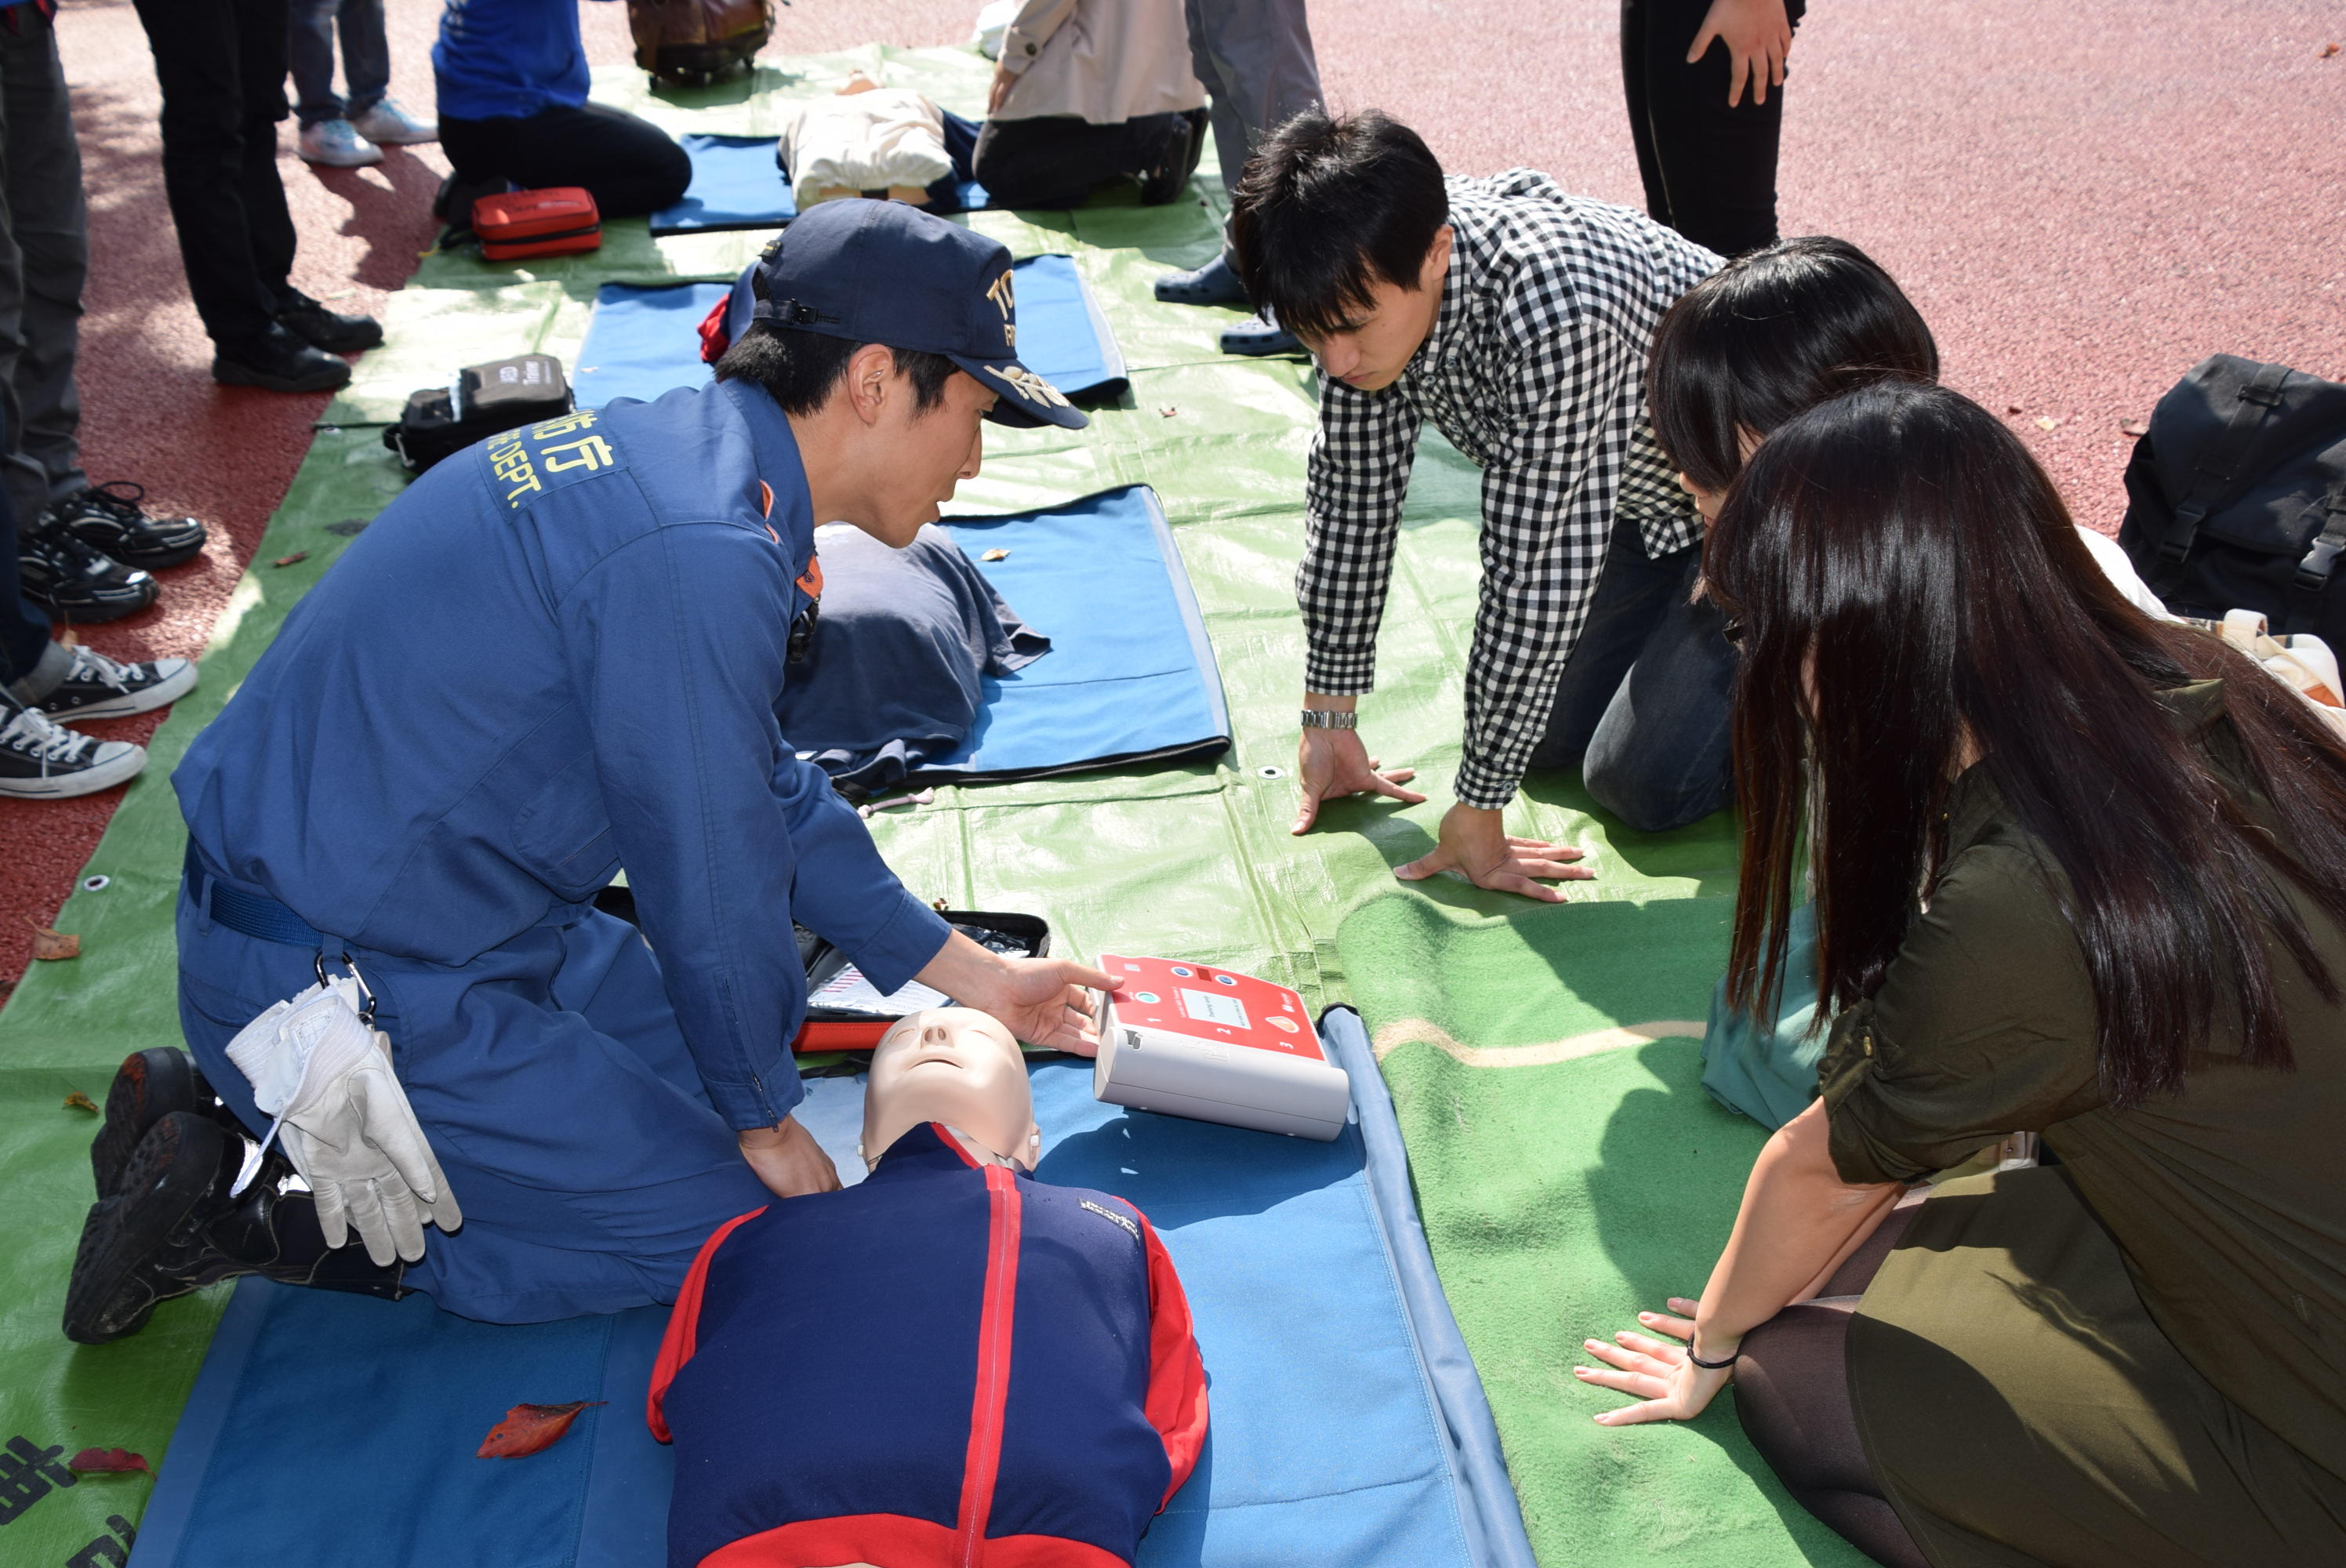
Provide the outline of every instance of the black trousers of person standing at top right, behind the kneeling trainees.
<path id="1" fill-rule="evenodd" d="M 1703 249 L 1741 256 L 1776 242 L 1785 87 L 1771 85 L 1767 103 L 1752 103 L 1745 80 L 1743 101 L 1727 108 L 1727 45 L 1713 42 L 1687 63 L 1708 9 L 1710 0 L 1621 0 L 1621 87 L 1645 211 Z M 1785 0 L 1795 28 L 1804 9 L 1804 0 Z"/>

